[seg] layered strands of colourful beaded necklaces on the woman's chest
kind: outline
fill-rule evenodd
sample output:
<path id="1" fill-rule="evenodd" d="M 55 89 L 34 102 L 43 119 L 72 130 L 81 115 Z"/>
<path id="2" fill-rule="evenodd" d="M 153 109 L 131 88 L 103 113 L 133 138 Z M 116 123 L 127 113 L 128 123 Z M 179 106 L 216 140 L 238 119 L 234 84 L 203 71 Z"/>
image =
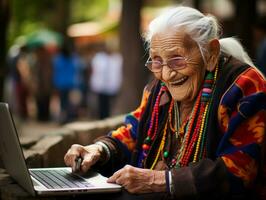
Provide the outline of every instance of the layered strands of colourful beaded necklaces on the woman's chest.
<path id="1" fill-rule="evenodd" d="M 171 100 L 168 110 L 168 119 L 165 123 L 161 143 L 155 160 L 151 165 L 151 169 L 155 167 L 159 159 L 159 155 L 165 148 L 168 130 L 176 135 L 176 139 L 180 140 L 180 146 L 175 154 L 176 156 L 174 156 L 171 160 L 169 165 L 170 168 L 187 166 L 189 162 L 197 162 L 203 157 L 206 157 L 206 124 L 208 122 L 210 103 L 212 102 L 212 93 L 215 88 L 217 73 L 218 67 L 216 67 L 214 74 L 212 72 L 208 72 L 206 74 L 203 87 L 195 101 L 192 113 L 181 126 L 178 105 L 173 99 Z M 167 91 L 167 88 L 164 84 L 162 84 L 156 97 L 148 134 L 142 146 L 144 157 L 147 156 L 147 152 L 150 149 L 150 145 L 158 130 L 159 103 L 160 97 L 164 91 Z M 174 115 L 172 114 L 173 111 L 175 111 Z M 172 124 L 173 116 L 174 122 L 176 122 L 174 123 L 174 126 Z M 168 156 L 169 152 L 165 150 L 163 152 L 163 157 L 167 159 Z"/>

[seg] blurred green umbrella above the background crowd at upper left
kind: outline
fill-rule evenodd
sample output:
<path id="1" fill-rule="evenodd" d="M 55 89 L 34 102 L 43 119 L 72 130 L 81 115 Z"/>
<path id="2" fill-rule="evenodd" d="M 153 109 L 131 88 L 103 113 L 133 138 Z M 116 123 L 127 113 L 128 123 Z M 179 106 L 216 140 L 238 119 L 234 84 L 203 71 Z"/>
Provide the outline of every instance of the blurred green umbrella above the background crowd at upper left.
<path id="1" fill-rule="evenodd" d="M 30 49 L 47 47 L 58 48 L 61 46 L 63 41 L 62 35 L 55 31 L 41 29 L 35 32 L 30 33 L 27 36 L 26 46 Z"/>

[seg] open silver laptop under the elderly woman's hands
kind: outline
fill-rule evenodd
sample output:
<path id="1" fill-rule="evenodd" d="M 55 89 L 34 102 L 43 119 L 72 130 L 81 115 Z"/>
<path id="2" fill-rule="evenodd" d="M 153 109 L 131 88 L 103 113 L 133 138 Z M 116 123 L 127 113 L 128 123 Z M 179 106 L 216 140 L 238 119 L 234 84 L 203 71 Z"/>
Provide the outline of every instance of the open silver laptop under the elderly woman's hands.
<path id="1" fill-rule="evenodd" d="M 71 172 L 70 167 L 28 169 L 7 103 L 0 103 L 0 156 L 7 172 L 31 195 L 67 195 L 121 191 L 107 178 L 91 171 L 86 176 Z"/>

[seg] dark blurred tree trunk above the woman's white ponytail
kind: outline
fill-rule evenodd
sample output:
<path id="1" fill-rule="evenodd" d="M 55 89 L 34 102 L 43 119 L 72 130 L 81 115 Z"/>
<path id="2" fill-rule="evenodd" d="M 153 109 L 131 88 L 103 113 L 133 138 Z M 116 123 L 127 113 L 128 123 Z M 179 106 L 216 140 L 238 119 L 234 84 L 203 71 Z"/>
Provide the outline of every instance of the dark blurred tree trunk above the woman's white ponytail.
<path id="1" fill-rule="evenodd" d="M 252 26 L 256 20 L 257 0 L 234 0 L 235 5 L 235 32 L 250 56 L 254 56 L 252 48 Z"/>

